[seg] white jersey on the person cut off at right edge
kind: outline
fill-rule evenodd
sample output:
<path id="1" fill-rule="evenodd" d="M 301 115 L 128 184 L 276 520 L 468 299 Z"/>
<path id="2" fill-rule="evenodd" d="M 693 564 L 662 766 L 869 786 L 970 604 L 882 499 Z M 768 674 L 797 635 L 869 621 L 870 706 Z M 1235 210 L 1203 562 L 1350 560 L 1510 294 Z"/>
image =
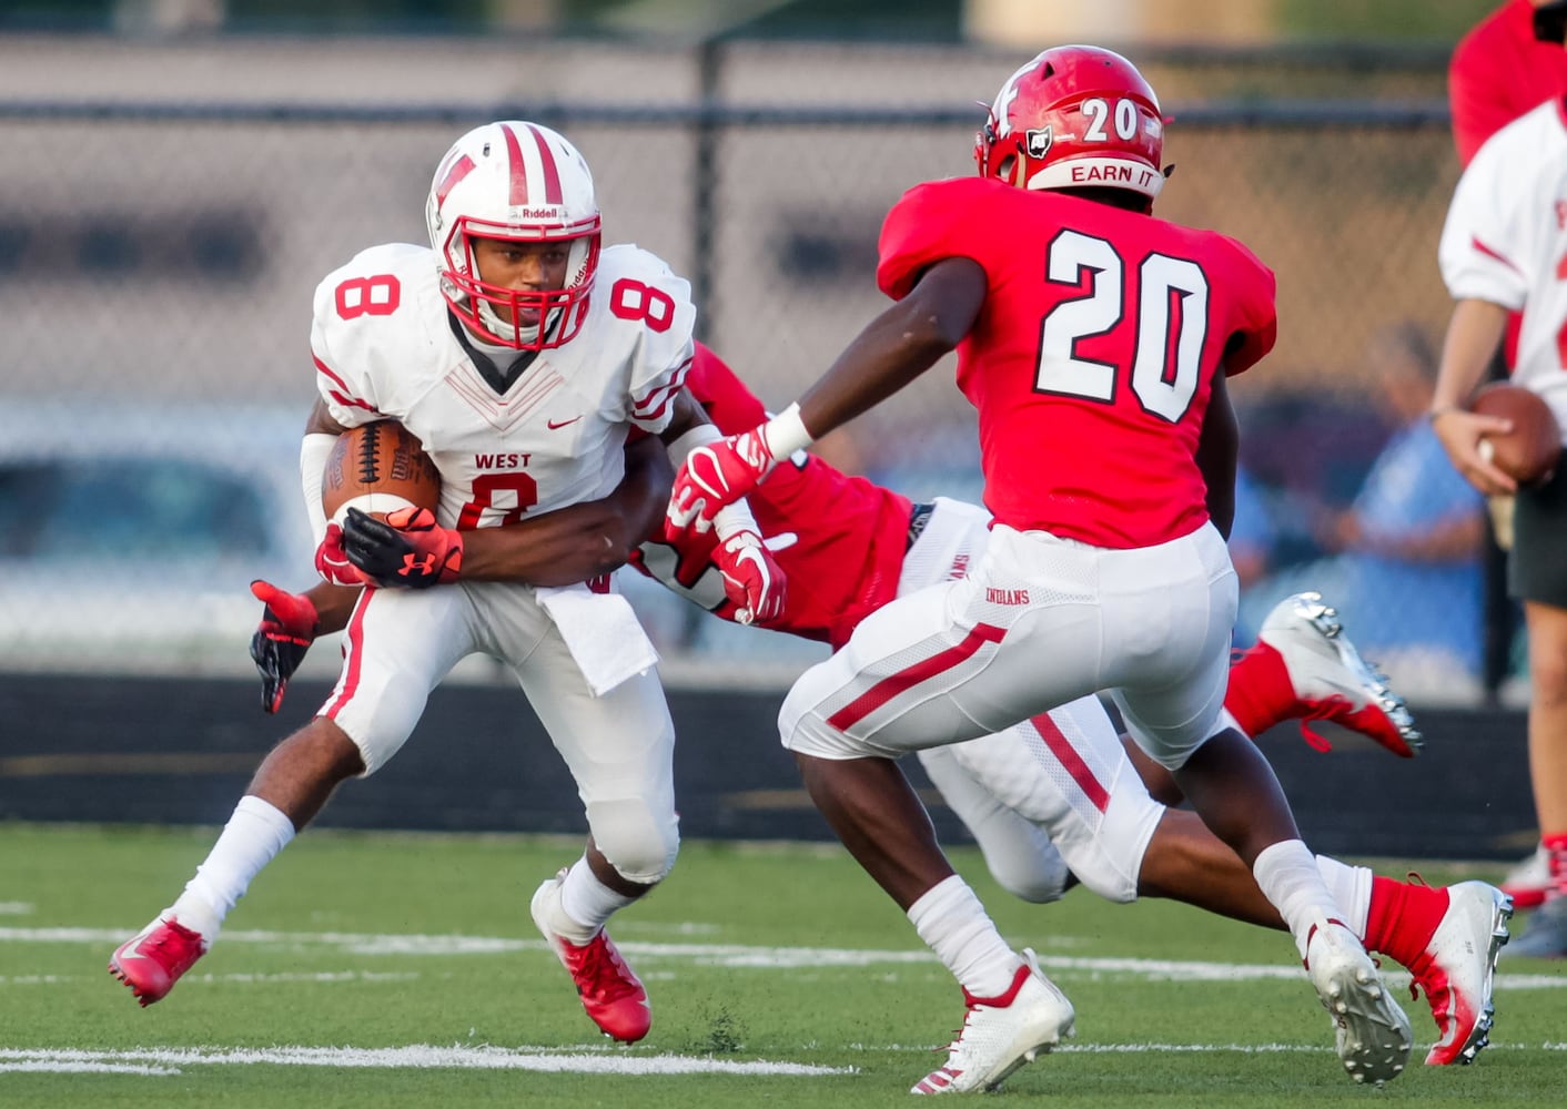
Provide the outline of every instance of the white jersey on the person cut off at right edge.
<path id="1" fill-rule="evenodd" d="M 1558 97 L 1490 136 L 1442 229 L 1454 299 L 1523 313 L 1512 381 L 1551 406 L 1567 437 L 1567 114 Z"/>

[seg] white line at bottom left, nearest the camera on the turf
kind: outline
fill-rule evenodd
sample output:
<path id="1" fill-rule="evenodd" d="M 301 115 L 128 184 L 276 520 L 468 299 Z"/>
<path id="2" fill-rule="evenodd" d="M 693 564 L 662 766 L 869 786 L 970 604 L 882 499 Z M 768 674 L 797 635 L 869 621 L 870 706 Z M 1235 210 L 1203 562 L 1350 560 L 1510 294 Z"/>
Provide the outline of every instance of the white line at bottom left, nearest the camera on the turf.
<path id="1" fill-rule="evenodd" d="M 697 1056 L 632 1056 L 584 1053 L 580 1048 L 437 1048 L 415 1043 L 406 1048 L 130 1048 L 125 1051 L 81 1051 L 50 1048 L 0 1048 L 0 1071 L 6 1070 L 124 1070 L 179 1075 L 183 1067 L 254 1065 L 332 1067 L 364 1070 L 461 1068 L 536 1070 L 583 1075 L 852 1075 L 852 1067 L 812 1067 L 809 1064 L 768 1062 L 765 1059 L 707 1059 Z"/>

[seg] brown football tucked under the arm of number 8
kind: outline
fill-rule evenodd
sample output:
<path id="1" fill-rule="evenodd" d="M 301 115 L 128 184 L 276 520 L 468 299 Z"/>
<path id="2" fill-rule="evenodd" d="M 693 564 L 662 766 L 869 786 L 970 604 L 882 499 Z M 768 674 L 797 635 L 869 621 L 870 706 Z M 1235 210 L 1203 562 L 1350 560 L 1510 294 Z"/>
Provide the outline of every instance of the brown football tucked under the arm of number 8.
<path id="1" fill-rule="evenodd" d="M 440 471 L 396 420 L 365 423 L 337 437 L 321 473 L 321 508 L 329 520 L 342 523 L 351 508 L 384 518 L 411 504 L 436 511 L 439 503 Z"/>

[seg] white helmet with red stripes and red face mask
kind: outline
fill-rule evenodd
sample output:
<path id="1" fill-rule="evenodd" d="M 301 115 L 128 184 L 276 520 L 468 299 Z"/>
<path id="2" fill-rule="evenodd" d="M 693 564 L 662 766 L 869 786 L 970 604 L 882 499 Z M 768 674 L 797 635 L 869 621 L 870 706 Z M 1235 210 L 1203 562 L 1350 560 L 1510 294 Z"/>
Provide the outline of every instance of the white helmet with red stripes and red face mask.
<path id="1" fill-rule="evenodd" d="M 439 255 L 440 293 L 476 337 L 539 351 L 581 329 L 599 269 L 599 202 L 586 160 L 561 135 L 523 121 L 475 127 L 436 168 L 425 222 Z M 486 282 L 473 238 L 570 243 L 566 287 L 531 291 Z M 516 323 L 519 310 L 537 313 L 537 323 Z"/>

